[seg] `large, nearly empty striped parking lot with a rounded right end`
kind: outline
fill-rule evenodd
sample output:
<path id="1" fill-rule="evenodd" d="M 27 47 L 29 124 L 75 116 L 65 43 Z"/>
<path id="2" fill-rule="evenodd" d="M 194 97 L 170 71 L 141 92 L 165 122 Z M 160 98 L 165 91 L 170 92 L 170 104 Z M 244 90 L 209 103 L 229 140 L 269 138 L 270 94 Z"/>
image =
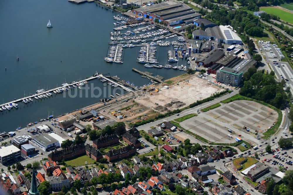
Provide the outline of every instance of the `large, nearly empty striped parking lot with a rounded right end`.
<path id="1" fill-rule="evenodd" d="M 233 143 L 234 139 L 241 135 L 241 138 L 258 144 L 261 140 L 257 140 L 253 133 L 263 133 L 262 130 L 268 129 L 277 117 L 275 110 L 256 102 L 241 100 L 200 113 L 180 125 L 212 142 Z M 243 130 L 243 126 L 250 131 Z M 232 133 L 228 132 L 228 129 L 231 129 Z M 232 138 L 228 134 L 231 134 Z"/>

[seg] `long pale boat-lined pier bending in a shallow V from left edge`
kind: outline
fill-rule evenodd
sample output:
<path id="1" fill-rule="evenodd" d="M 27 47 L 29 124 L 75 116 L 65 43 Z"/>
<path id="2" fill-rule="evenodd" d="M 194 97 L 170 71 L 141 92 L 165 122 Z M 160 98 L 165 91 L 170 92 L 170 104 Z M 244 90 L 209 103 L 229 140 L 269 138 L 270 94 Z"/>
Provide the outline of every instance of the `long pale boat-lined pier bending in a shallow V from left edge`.
<path id="1" fill-rule="evenodd" d="M 1 104 L 0 107 L 1 107 L 1 106 L 5 106 L 5 105 L 8 105 L 8 104 L 11 104 L 11 103 L 21 102 L 21 101 L 23 101 L 24 99 L 27 99 L 27 98 L 34 98 L 34 97 L 37 96 L 37 95 L 42 95 L 42 94 L 51 93 L 51 92 L 53 93 L 54 90 L 62 89 L 63 87 L 67 87 L 67 86 L 76 85 L 77 83 L 81 83 L 81 82 L 84 82 L 84 81 L 90 81 L 90 80 L 96 79 L 96 78 L 98 78 L 98 77 L 104 78 L 104 79 L 106 79 L 107 81 L 110 81 L 110 82 L 114 83 L 115 85 L 120 86 L 122 89 L 124 89 L 124 90 L 126 90 L 126 91 L 128 91 L 128 92 L 134 92 L 133 90 L 131 90 L 131 89 L 125 87 L 123 84 L 121 84 L 121 83 L 116 83 L 116 82 L 110 80 L 109 78 L 103 76 L 103 74 L 95 74 L 95 76 L 91 76 L 91 77 L 86 78 L 86 79 L 84 79 L 84 80 L 82 80 L 82 81 L 77 81 L 77 82 L 74 82 L 74 83 L 70 83 L 70 84 L 68 84 L 68 85 L 66 85 L 66 86 L 60 86 L 60 87 L 57 87 L 57 88 L 54 88 L 54 89 L 50 89 L 50 90 L 44 91 L 44 92 L 42 92 L 42 93 L 33 94 L 33 95 L 28 96 L 28 97 L 20 98 L 20 99 L 17 99 L 17 100 L 13 100 L 13 101 L 11 101 L 11 102 L 7 102 L 7 103 L 5 103 L 5 104 Z M 128 85 L 127 85 L 127 86 L 128 86 Z M 49 97 L 48 97 L 48 98 L 49 98 Z"/>

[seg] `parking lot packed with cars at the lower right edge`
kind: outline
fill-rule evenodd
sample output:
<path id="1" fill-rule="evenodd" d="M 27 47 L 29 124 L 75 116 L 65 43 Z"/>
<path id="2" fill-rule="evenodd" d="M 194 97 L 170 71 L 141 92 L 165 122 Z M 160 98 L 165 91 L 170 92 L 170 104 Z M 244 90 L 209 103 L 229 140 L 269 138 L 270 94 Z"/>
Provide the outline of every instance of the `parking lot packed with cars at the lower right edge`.
<path id="1" fill-rule="evenodd" d="M 280 149 L 280 148 L 278 148 Z M 276 147 L 272 147 L 272 150 L 276 150 Z M 293 170 L 293 165 L 291 165 L 292 163 L 288 163 L 289 161 L 293 161 L 292 157 L 293 157 L 293 153 L 292 153 L 293 149 L 289 149 L 289 150 L 286 150 L 286 149 L 283 149 L 283 150 L 280 150 L 280 151 L 275 151 L 273 153 L 268 153 L 268 154 L 264 154 L 263 156 L 259 156 L 260 160 L 264 160 L 264 158 L 268 161 L 269 159 L 269 162 L 267 161 L 263 161 L 265 164 L 267 165 L 270 165 L 271 167 L 274 167 L 276 169 L 279 169 L 280 166 L 286 168 L 289 170 Z M 277 158 L 277 157 L 273 157 L 273 156 L 280 156 L 280 158 Z M 275 162 L 273 162 L 275 160 Z M 287 162 L 287 164 L 286 164 Z M 273 164 L 272 164 L 273 163 Z M 280 164 L 279 164 L 280 163 Z"/>

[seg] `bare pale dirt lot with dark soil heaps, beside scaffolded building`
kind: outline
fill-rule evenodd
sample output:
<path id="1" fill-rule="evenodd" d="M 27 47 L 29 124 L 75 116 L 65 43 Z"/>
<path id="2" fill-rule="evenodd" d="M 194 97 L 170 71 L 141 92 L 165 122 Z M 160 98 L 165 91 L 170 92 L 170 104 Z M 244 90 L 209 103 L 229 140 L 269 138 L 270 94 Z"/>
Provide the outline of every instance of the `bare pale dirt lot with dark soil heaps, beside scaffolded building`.
<path id="1" fill-rule="evenodd" d="M 169 89 L 165 89 L 164 85 L 161 84 L 156 87 L 156 89 L 160 89 L 159 92 L 145 93 L 135 101 L 159 112 L 165 112 L 185 107 L 197 100 L 209 97 L 212 93 L 223 90 L 195 75 L 180 82 L 179 85 L 176 83 L 169 85 Z"/>

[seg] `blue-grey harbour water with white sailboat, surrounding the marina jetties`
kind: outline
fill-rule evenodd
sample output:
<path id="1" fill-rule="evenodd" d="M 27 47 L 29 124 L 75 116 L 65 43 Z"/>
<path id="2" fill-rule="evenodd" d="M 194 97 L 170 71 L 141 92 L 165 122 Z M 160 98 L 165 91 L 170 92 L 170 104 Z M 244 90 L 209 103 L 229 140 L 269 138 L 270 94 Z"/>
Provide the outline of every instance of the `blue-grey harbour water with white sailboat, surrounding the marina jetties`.
<path id="1" fill-rule="evenodd" d="M 183 73 L 179 70 L 144 68 L 143 64 L 135 62 L 140 47 L 125 49 L 123 64 L 106 63 L 104 57 L 109 46 L 109 33 L 113 31 L 115 22 L 113 15 L 117 14 L 95 3 L 0 1 L 0 101 L 9 102 L 39 88 L 55 88 L 65 81 L 85 79 L 96 71 L 117 75 L 137 86 L 149 81 L 134 73 L 132 68 L 149 71 L 165 79 Z M 46 28 L 49 19 L 53 28 Z M 169 49 L 158 49 L 160 64 L 166 64 Z M 180 61 L 178 64 L 183 63 Z M 97 80 L 91 81 L 89 86 L 91 83 L 103 87 Z M 48 112 L 52 114 L 54 111 L 54 115 L 58 116 L 92 105 L 102 97 L 110 98 L 112 93 L 107 89 L 99 98 L 86 98 L 85 95 L 77 98 L 67 95 L 64 98 L 63 95 L 53 94 L 53 98 L 34 100 L 29 105 L 20 102 L 18 110 L 0 113 L 0 132 L 13 131 L 18 126 L 46 118 Z"/>

